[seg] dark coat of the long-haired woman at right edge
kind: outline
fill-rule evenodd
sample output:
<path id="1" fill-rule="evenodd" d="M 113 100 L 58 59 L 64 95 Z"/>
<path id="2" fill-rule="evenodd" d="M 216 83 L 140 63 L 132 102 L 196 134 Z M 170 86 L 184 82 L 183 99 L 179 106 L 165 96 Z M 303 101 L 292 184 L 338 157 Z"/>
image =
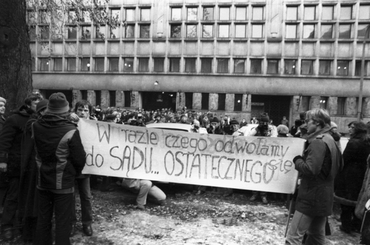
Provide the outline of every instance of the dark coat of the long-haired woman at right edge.
<path id="1" fill-rule="evenodd" d="M 370 144 L 360 138 L 348 141 L 343 152 L 344 167 L 335 183 L 335 195 L 350 201 L 357 201 L 367 169 Z"/>

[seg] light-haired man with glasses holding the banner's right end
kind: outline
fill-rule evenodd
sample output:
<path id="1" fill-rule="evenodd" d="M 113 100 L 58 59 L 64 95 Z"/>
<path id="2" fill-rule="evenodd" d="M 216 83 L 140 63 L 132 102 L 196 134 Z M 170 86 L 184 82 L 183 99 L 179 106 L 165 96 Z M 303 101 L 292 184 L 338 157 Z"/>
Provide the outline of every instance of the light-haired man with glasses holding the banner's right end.
<path id="1" fill-rule="evenodd" d="M 333 212 L 334 178 L 343 167 L 343 159 L 329 130 L 331 120 L 325 109 L 306 113 L 307 141 L 303 157 L 293 159 L 302 180 L 296 199 L 296 212 L 289 228 L 286 245 L 324 245 L 325 223 Z"/>

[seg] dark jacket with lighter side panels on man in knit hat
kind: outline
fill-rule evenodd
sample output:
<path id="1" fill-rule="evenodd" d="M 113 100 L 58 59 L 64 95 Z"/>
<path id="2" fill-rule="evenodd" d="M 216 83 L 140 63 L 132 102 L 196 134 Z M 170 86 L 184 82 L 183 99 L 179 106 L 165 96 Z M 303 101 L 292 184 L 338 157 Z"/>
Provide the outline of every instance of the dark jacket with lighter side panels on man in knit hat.
<path id="1" fill-rule="evenodd" d="M 41 115 L 33 124 L 38 170 L 37 187 L 67 189 L 85 165 L 85 150 L 77 125 L 54 114 Z"/>

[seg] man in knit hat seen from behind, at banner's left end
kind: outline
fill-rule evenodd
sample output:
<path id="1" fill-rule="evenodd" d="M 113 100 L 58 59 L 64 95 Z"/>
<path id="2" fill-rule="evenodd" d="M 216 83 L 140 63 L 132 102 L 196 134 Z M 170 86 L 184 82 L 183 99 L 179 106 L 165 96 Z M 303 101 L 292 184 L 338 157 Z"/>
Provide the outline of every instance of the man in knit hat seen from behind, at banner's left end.
<path id="1" fill-rule="evenodd" d="M 51 245 L 51 220 L 55 212 L 55 244 L 70 245 L 74 178 L 81 174 L 86 153 L 69 103 L 63 93 L 50 95 L 47 113 L 33 124 L 38 170 L 37 245 Z"/>

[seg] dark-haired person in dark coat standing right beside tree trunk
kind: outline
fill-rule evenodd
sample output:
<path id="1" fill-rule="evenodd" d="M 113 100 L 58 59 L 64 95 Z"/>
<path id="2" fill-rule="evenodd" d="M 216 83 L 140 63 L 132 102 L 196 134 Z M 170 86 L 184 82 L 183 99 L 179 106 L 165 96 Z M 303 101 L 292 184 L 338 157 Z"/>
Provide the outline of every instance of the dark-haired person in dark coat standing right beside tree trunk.
<path id="1" fill-rule="evenodd" d="M 9 187 L 1 217 L 1 235 L 4 240 L 13 239 L 13 224 L 18 206 L 19 178 L 21 175 L 21 141 L 30 116 L 42 96 L 34 93 L 28 96 L 24 105 L 13 111 L 5 120 L 0 133 L 0 171 L 6 172 Z"/>

